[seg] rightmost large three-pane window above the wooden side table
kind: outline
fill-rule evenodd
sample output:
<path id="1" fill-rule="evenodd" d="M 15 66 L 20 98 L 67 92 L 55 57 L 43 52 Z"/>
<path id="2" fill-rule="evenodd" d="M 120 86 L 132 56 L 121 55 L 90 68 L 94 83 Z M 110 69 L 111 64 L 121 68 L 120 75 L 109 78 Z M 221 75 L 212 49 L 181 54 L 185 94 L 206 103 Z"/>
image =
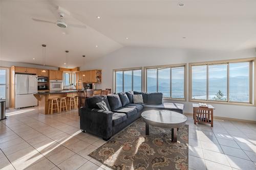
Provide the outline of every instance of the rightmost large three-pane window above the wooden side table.
<path id="1" fill-rule="evenodd" d="M 254 60 L 190 63 L 190 100 L 249 103 Z"/>

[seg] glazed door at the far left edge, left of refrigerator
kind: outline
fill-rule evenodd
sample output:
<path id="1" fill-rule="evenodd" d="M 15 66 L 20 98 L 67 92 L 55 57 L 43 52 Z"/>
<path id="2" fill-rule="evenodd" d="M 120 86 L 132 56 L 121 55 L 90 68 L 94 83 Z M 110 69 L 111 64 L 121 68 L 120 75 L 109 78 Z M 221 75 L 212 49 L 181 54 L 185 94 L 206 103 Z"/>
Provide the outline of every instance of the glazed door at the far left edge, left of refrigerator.
<path id="1" fill-rule="evenodd" d="M 0 68 L 0 99 L 8 100 L 8 68 Z"/>

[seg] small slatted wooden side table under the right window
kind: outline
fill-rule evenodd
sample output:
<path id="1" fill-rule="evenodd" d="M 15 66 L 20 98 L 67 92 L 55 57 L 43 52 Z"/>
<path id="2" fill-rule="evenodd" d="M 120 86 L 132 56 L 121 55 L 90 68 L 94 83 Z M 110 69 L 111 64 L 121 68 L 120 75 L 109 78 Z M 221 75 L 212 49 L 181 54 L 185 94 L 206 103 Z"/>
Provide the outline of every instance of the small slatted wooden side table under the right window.
<path id="1" fill-rule="evenodd" d="M 199 104 L 193 103 L 193 110 L 194 110 L 194 124 L 196 125 L 197 122 L 210 124 L 211 127 L 214 127 L 214 107 L 208 105 L 206 107 L 199 107 Z"/>

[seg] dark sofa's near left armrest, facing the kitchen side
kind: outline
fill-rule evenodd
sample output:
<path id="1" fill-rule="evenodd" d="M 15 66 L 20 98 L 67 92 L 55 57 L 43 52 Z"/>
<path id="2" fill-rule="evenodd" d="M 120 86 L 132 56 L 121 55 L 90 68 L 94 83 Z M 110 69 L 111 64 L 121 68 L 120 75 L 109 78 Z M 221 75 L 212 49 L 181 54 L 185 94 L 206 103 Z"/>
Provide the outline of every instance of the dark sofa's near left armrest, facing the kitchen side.
<path id="1" fill-rule="evenodd" d="M 80 108 L 80 129 L 108 139 L 113 135 L 113 112 Z"/>

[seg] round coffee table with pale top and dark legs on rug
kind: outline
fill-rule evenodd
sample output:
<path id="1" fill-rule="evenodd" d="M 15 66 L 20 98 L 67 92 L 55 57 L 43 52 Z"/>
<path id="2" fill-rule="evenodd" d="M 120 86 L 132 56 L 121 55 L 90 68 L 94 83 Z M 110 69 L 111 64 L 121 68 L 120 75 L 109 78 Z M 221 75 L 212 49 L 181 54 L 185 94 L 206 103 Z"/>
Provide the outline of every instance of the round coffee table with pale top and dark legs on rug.
<path id="1" fill-rule="evenodd" d="M 142 114 L 146 123 L 146 135 L 150 134 L 150 125 L 160 128 L 172 128 L 172 142 L 177 142 L 177 130 L 186 124 L 187 117 L 169 110 L 147 110 Z"/>

